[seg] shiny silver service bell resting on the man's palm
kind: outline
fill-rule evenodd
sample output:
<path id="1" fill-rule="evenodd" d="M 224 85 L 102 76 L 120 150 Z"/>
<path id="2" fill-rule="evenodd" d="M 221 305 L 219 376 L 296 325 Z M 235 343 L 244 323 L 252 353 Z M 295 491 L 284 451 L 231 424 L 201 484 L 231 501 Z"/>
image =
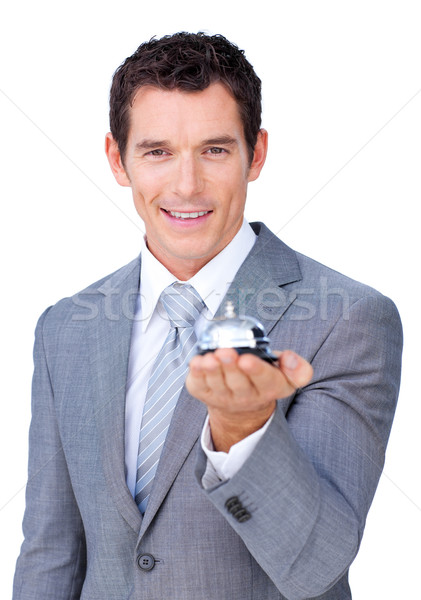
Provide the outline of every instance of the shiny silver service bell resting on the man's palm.
<path id="1" fill-rule="evenodd" d="M 198 354 L 217 348 L 234 348 L 238 354 L 255 354 L 266 362 L 277 362 L 269 348 L 270 340 L 263 325 L 254 317 L 237 317 L 232 302 L 226 302 L 224 315 L 205 327 L 197 342 Z"/>

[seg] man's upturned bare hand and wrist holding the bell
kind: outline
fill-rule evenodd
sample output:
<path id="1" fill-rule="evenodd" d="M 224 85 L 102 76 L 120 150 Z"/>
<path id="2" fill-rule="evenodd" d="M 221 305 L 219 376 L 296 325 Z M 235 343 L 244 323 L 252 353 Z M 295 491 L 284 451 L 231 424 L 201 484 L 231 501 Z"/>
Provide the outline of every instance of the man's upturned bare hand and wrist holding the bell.
<path id="1" fill-rule="evenodd" d="M 186 386 L 207 405 L 216 450 L 228 452 L 236 442 L 262 427 L 275 410 L 276 400 L 306 385 L 311 365 L 291 350 L 275 353 L 278 365 L 253 354 L 239 355 L 220 348 L 190 362 Z"/>

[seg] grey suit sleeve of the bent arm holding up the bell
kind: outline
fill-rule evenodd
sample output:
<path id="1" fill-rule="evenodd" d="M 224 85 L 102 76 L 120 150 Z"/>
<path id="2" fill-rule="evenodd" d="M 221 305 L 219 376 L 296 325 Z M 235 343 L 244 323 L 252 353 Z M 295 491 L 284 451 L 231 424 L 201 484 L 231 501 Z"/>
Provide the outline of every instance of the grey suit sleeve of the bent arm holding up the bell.
<path id="1" fill-rule="evenodd" d="M 384 464 L 401 351 L 394 304 L 380 295 L 355 302 L 309 357 L 313 381 L 278 402 L 237 474 L 204 491 L 289 600 L 325 593 L 355 558 Z M 200 455 L 199 481 L 203 468 Z M 248 520 L 229 511 L 230 498 Z"/>

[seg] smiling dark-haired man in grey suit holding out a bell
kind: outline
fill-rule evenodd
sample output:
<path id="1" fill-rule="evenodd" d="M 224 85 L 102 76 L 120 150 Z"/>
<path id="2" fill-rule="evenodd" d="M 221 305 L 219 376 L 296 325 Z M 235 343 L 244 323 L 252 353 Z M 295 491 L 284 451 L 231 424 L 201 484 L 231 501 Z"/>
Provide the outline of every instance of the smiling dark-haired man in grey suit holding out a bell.
<path id="1" fill-rule="evenodd" d="M 244 221 L 267 133 L 260 80 L 225 38 L 142 44 L 110 106 L 106 153 L 146 237 L 38 323 L 14 598 L 351 598 L 398 394 L 397 311 Z M 192 358 L 223 298 L 263 322 L 278 365 Z"/>

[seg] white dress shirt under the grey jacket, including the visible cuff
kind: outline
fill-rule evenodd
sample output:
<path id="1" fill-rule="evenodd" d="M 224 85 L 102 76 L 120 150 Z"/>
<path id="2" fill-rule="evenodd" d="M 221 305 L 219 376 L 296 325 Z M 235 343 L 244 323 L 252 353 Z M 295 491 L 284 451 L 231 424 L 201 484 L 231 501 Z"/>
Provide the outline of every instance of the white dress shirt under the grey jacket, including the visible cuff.
<path id="1" fill-rule="evenodd" d="M 189 279 L 188 283 L 197 290 L 206 304 L 195 325 L 197 335 L 200 335 L 200 330 L 207 321 L 213 319 L 255 241 L 256 235 L 250 225 L 243 221 L 241 229 L 228 246 Z M 166 311 L 159 297 L 167 286 L 177 281 L 176 277 L 150 253 L 144 241 L 141 256 L 140 293 L 132 330 L 125 413 L 126 481 L 133 497 L 136 486 L 140 424 L 148 381 L 155 358 L 170 329 Z M 213 450 L 206 419 L 201 440 L 208 456 L 208 468 L 203 478 L 203 485 L 208 487 L 218 480 L 229 479 L 252 452 L 265 428 L 235 444 L 227 454 Z"/>

